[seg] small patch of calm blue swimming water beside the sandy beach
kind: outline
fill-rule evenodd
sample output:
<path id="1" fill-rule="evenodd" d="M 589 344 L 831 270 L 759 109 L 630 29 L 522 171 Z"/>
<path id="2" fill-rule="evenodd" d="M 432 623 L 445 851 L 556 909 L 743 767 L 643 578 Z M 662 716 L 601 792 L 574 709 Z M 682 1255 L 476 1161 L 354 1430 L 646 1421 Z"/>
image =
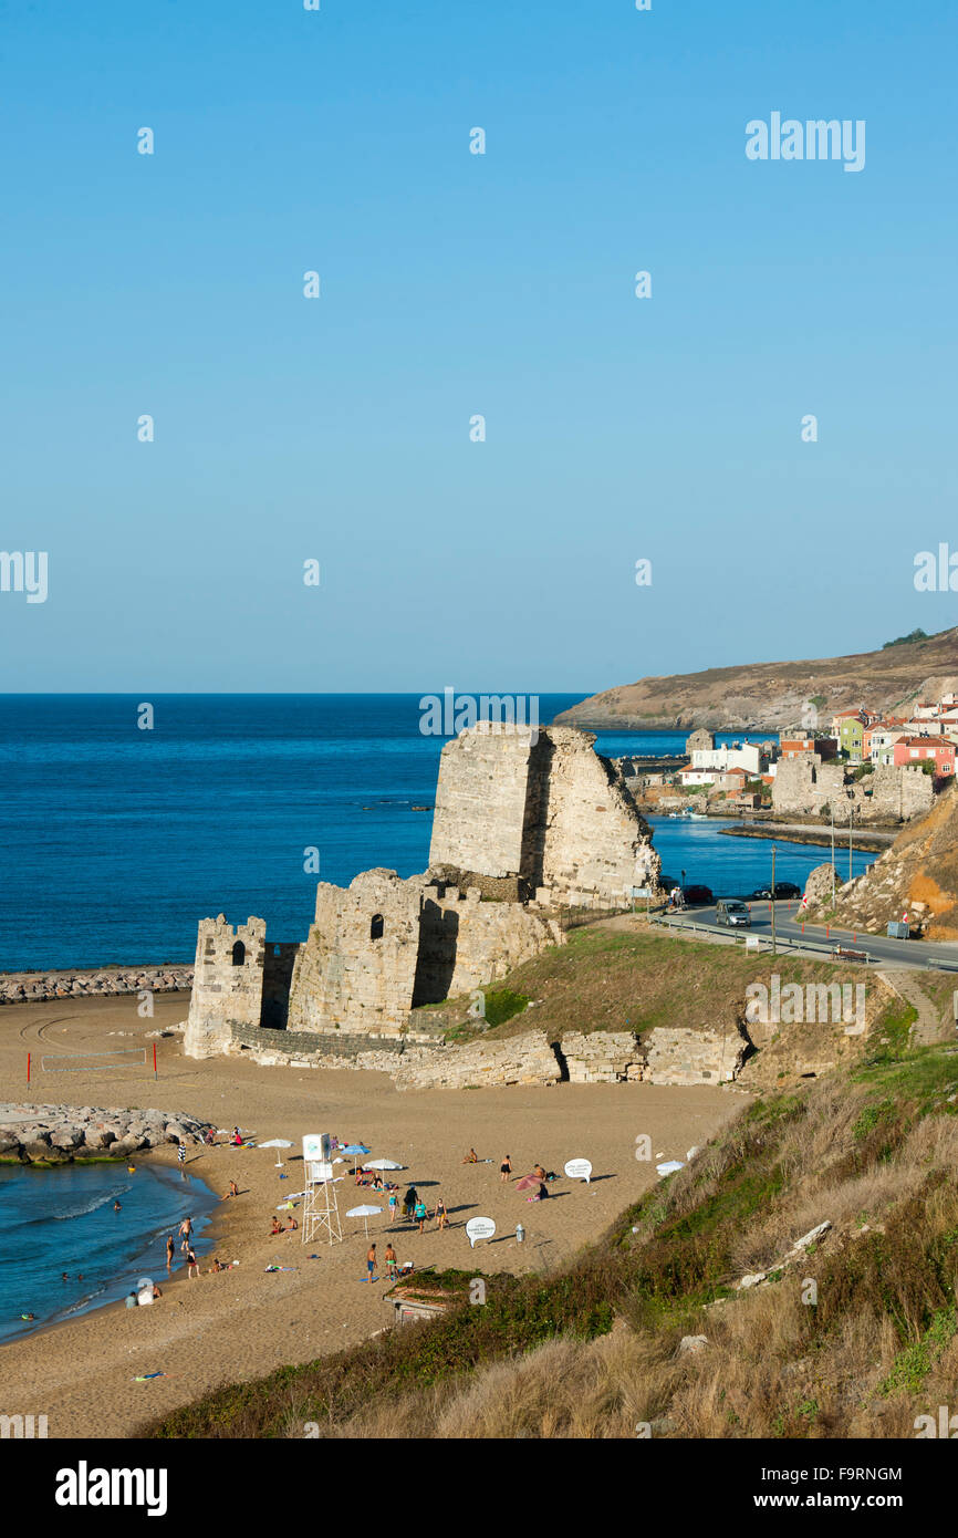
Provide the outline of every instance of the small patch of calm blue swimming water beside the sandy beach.
<path id="1" fill-rule="evenodd" d="M 135 1175 L 125 1163 L 0 1164 L 0 1341 L 118 1301 L 141 1277 L 163 1289 L 166 1235 L 177 1238 L 192 1217 L 197 1257 L 205 1253 L 200 1235 L 214 1206 L 201 1181 L 155 1164 L 137 1164 Z M 177 1241 L 174 1269 L 180 1260 Z"/>

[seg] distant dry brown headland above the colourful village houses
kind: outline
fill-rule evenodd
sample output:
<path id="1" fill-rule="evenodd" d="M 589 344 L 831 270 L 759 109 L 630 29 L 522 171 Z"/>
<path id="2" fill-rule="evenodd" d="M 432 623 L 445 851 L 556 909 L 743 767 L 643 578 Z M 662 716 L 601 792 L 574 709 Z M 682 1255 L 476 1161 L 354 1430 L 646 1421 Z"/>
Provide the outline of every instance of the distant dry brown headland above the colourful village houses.
<path id="1" fill-rule="evenodd" d="M 958 689 L 958 629 L 877 652 L 826 657 L 818 661 L 744 663 L 698 674 L 640 678 L 595 694 L 564 711 L 557 721 L 590 731 L 714 731 L 797 726 L 807 701 L 818 718 L 867 703 L 904 714 L 915 700 Z"/>

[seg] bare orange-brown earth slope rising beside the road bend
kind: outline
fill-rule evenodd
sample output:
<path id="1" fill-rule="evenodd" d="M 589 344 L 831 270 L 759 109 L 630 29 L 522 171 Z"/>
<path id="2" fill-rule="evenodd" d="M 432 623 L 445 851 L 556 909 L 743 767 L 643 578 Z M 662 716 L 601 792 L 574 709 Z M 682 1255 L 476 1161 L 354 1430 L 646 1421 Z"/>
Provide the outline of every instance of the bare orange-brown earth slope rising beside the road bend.
<path id="1" fill-rule="evenodd" d="M 958 940 L 958 786 L 838 894 L 835 921 L 880 934 L 909 914 L 929 940 Z M 813 912 L 813 917 L 824 917 Z"/>

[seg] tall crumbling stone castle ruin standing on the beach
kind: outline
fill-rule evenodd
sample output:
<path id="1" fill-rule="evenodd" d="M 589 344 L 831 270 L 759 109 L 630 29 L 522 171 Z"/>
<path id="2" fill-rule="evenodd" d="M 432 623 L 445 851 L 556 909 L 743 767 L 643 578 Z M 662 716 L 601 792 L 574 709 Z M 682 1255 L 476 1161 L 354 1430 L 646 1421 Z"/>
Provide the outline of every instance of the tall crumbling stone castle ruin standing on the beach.
<path id="1" fill-rule="evenodd" d="M 469 994 L 561 944 L 561 910 L 624 907 L 660 886 L 652 834 L 621 775 L 572 727 L 478 723 L 443 749 L 431 867 L 320 883 L 301 943 L 266 921 L 198 927 L 188 1057 L 335 1040 L 404 1046 L 412 1009 Z M 266 1035 L 264 1035 L 266 1034 Z"/>

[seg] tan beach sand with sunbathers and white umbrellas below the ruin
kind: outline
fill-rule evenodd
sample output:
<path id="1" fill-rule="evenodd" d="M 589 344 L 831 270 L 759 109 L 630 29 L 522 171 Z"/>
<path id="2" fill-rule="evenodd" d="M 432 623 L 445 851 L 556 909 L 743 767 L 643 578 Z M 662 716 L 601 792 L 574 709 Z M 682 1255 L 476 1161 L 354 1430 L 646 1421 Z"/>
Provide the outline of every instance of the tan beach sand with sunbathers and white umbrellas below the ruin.
<path id="1" fill-rule="evenodd" d="M 155 1017 L 140 1020 L 137 998 L 58 1000 L 0 1010 L 0 1098 L 38 1104 L 143 1106 L 185 1110 L 218 1127 L 240 1127 L 260 1140 L 291 1138 L 292 1149 L 191 1149 L 186 1167 L 220 1195 L 235 1180 L 240 1197 L 221 1203 L 212 1255 L 240 1266 L 188 1280 L 166 1277 L 165 1247 L 152 1267 L 163 1298 L 151 1309 L 111 1304 L 66 1324 L 0 1346 L 3 1413 L 46 1415 L 51 1438 L 123 1436 L 137 1423 L 195 1400 L 225 1383 L 249 1380 L 284 1363 L 304 1363 L 361 1341 L 392 1321 L 383 1303 L 384 1273 L 366 1281 L 363 1220 L 346 1209 L 383 1206 L 369 1220 L 369 1238 L 383 1255 L 392 1240 L 398 1260 L 417 1267 L 472 1267 L 477 1272 L 544 1270 L 572 1258 L 655 1180 L 655 1161 L 635 1160 L 635 1140 L 649 1134 L 657 1161 L 684 1158 L 735 1115 L 744 1097 L 712 1089 L 666 1089 L 654 1084 L 558 1084 L 481 1090 L 414 1090 L 398 1094 L 384 1074 L 258 1067 L 241 1057 L 192 1061 L 181 1037 L 157 1041 L 158 1081 L 152 1077 L 148 1032 L 185 1020 L 189 995 L 157 995 Z M 40 1072 L 26 1090 L 26 1052 L 34 1072 L 42 1054 L 117 1050 L 145 1044 L 149 1067 L 123 1066 L 89 1072 Z M 269 1238 L 272 1213 L 288 1192 L 303 1189 L 300 1140 L 331 1132 L 343 1143 L 363 1141 L 371 1158 L 394 1158 L 400 1192 L 409 1181 L 429 1207 L 443 1195 L 451 1226 L 389 1226 L 386 1197 L 358 1189 L 351 1178 L 337 1186 L 343 1243 L 300 1233 Z M 491 1163 L 463 1164 L 474 1146 Z M 512 1155 L 514 1175 L 537 1160 L 555 1169 L 554 1197 L 529 1203 L 514 1184 L 500 1184 L 498 1166 Z M 140 1154 L 175 1164 L 175 1150 Z M 566 1160 L 592 1161 L 589 1186 L 569 1181 Z M 337 1166 L 338 1169 L 340 1166 Z M 343 1166 L 351 1167 L 351 1166 Z M 278 1177 L 288 1178 L 281 1181 Z M 471 1250 L 464 1223 L 491 1217 L 497 1237 Z M 301 1218 L 301 1203 L 295 1217 Z M 283 1221 L 286 1215 L 281 1213 Z M 526 1243 L 515 1241 L 515 1226 Z M 308 1260 L 309 1253 L 318 1260 Z M 212 1257 L 211 1257 L 212 1258 Z M 203 1269 L 209 1260 L 201 1263 Z M 266 1273 L 271 1263 L 295 1267 Z M 149 1267 L 146 1267 L 149 1269 Z M 138 1375 L 165 1378 L 135 1383 Z"/>

